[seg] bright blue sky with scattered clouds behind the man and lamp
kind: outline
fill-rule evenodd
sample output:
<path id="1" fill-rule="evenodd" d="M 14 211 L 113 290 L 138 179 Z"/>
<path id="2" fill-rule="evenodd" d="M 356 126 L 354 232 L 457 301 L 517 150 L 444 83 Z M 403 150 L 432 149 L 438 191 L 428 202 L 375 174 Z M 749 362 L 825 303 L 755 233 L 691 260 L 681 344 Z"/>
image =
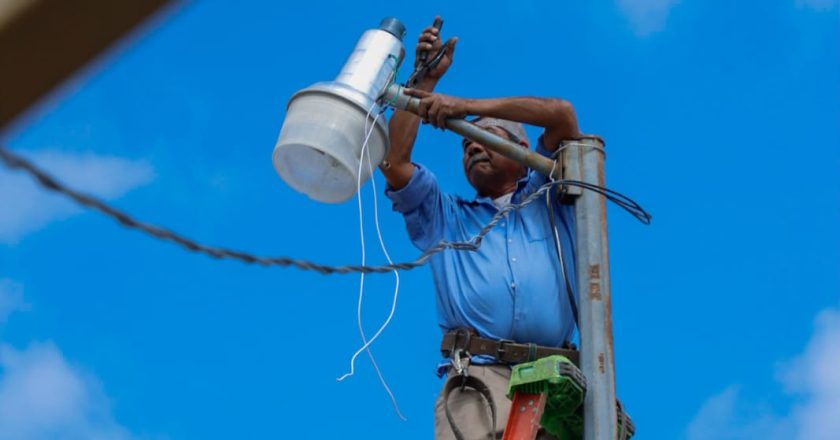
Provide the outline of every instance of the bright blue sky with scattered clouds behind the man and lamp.
<path id="1" fill-rule="evenodd" d="M 439 91 L 570 100 L 607 140 L 609 186 L 654 216 L 609 211 L 617 382 L 637 438 L 836 435 L 836 0 L 197 1 L 0 140 L 197 240 L 355 263 L 356 202 L 315 203 L 272 168 L 285 104 L 332 79 L 382 17 L 406 23 L 411 48 L 436 14 L 460 37 Z M 458 145 L 425 128 L 416 159 L 469 196 Z M 413 259 L 402 219 L 379 207 L 392 256 Z M 403 274 L 373 347 L 407 422 L 366 359 L 335 381 L 359 345 L 358 281 L 189 254 L 0 170 L 0 437 L 429 438 L 430 273 Z M 366 281 L 369 332 L 393 281 Z"/>

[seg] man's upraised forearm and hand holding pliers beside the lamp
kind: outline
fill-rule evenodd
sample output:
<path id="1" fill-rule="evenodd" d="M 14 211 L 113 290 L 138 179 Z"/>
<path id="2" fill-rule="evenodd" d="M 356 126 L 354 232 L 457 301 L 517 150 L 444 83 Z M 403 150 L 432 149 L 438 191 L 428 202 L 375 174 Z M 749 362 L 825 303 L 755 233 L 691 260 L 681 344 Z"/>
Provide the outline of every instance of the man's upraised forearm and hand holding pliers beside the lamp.
<path id="1" fill-rule="evenodd" d="M 452 55 L 455 53 L 455 44 L 457 42 L 458 39 L 453 38 L 446 43 L 446 55 L 441 58 L 437 67 L 431 69 L 426 75 L 426 78 L 417 84 L 416 90 L 423 90 L 429 93 L 434 90 L 440 78 L 452 64 Z M 421 51 L 428 51 L 429 58 L 431 58 L 442 47 L 443 43 L 440 40 L 440 31 L 429 26 L 420 34 L 415 51 L 415 60 L 420 59 L 419 55 Z M 414 164 L 411 163 L 411 151 L 414 149 L 414 141 L 417 139 L 417 130 L 420 126 L 420 121 L 421 119 L 413 113 L 396 111 L 391 117 L 391 122 L 388 124 L 391 149 L 388 151 L 388 156 L 385 158 L 386 162 L 383 164 L 384 166 L 380 167 L 380 170 L 382 170 L 385 181 L 388 182 L 388 186 L 391 189 L 399 190 L 404 188 L 409 180 L 411 180 L 412 174 L 414 174 Z"/>

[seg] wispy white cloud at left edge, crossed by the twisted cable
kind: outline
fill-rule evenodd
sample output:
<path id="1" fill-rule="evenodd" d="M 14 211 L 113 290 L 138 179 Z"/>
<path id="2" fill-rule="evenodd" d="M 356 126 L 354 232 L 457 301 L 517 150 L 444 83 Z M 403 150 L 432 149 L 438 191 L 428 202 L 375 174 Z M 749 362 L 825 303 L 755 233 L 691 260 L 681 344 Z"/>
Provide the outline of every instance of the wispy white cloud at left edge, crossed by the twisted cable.
<path id="1" fill-rule="evenodd" d="M 58 151 L 26 156 L 72 188 L 105 199 L 120 197 L 154 178 L 145 161 Z M 0 200 L 0 244 L 17 243 L 50 222 L 81 211 L 65 197 L 41 189 L 20 171 L 0 170 Z"/>

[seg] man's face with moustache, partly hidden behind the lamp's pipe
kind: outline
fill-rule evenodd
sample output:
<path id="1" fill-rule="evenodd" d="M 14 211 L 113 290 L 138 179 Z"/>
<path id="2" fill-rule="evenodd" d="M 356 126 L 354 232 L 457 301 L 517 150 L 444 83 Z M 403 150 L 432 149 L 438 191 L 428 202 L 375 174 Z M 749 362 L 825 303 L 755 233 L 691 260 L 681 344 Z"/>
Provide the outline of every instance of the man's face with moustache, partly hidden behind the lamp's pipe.
<path id="1" fill-rule="evenodd" d="M 499 127 L 484 127 L 485 130 L 512 140 L 510 135 Z M 520 141 L 523 148 L 528 144 Z M 525 175 L 525 167 L 514 160 L 485 148 L 483 145 L 464 139 L 464 175 L 479 195 L 498 197 L 516 187 L 516 182 Z"/>

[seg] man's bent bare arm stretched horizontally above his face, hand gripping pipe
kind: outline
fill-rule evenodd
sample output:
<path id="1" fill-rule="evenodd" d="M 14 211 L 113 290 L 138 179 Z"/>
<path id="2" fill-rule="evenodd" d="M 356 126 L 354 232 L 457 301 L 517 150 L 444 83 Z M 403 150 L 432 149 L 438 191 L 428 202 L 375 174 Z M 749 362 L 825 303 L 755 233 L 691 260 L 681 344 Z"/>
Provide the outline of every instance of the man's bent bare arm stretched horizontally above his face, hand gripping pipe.
<path id="1" fill-rule="evenodd" d="M 563 139 L 580 136 L 575 110 L 563 99 L 464 99 L 419 89 L 408 89 L 406 93 L 420 98 L 418 113 L 439 128 L 445 127 L 444 122 L 448 118 L 467 115 L 507 119 L 545 128 L 543 144 L 548 151 L 557 150 Z"/>

